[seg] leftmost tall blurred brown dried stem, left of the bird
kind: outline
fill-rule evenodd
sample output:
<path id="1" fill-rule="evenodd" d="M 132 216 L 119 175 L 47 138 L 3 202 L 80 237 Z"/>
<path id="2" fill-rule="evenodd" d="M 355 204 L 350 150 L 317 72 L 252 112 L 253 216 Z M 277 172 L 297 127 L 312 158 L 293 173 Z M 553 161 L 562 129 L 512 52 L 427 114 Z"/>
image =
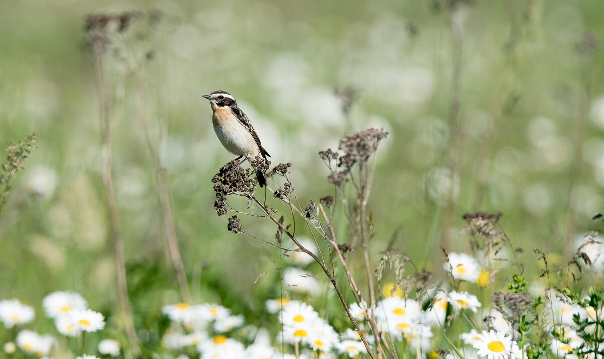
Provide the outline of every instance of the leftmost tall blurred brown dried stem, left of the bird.
<path id="1" fill-rule="evenodd" d="M 94 43 L 94 54 L 96 60 L 95 74 L 97 75 L 98 96 L 101 107 L 101 126 L 102 126 L 102 147 L 101 147 L 101 176 L 103 178 L 103 187 L 111 233 L 114 241 L 114 256 L 117 267 L 117 287 L 122 320 L 124 329 L 130 342 L 132 354 L 140 357 L 141 351 L 137 332 L 132 319 L 130 310 L 130 299 L 128 297 L 128 287 L 126 281 L 126 259 L 124 258 L 124 242 L 121 237 L 120 218 L 117 213 L 117 202 L 115 200 L 115 191 L 111 171 L 111 121 L 109 120 L 109 96 L 106 84 L 105 62 L 104 62 L 104 43 Z"/>

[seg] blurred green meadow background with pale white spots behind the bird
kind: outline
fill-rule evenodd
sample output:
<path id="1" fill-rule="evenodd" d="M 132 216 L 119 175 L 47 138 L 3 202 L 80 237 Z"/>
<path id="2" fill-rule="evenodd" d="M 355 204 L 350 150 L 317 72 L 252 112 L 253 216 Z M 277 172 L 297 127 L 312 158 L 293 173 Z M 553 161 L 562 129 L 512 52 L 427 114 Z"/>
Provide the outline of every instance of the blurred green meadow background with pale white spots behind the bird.
<path id="1" fill-rule="evenodd" d="M 108 45 L 108 71 L 111 97 L 124 84 L 114 180 L 137 313 L 180 299 L 138 119 L 141 89 L 120 51 L 149 77 L 152 137 L 162 129 L 198 300 L 253 313 L 279 293 L 268 259 L 279 253 L 227 232 L 213 208 L 210 179 L 233 157 L 201 98 L 216 90 L 237 98 L 273 164 L 292 162 L 301 203 L 333 194 L 319 150 L 337 148 L 346 132 L 390 132 L 371 191 L 374 261 L 396 233 L 394 247 L 440 270 L 443 240 L 469 250 L 457 235 L 467 211 L 503 212 L 501 224 L 531 263 L 532 247 L 563 253 L 566 238 L 575 246 L 599 227 L 591 217 L 604 198 L 602 1 L 2 1 L 0 141 L 34 132 L 39 145 L 0 216 L 2 299 L 19 297 L 40 313 L 43 296 L 71 289 L 91 308 L 115 306 L 84 24 L 89 13 L 125 10 L 143 17 L 126 45 Z M 161 20 L 149 25 L 158 10 Z M 334 89 L 348 86 L 358 98 L 346 116 Z M 242 224 L 274 238 L 268 222 Z M 343 221 L 339 230 L 345 240 Z"/>

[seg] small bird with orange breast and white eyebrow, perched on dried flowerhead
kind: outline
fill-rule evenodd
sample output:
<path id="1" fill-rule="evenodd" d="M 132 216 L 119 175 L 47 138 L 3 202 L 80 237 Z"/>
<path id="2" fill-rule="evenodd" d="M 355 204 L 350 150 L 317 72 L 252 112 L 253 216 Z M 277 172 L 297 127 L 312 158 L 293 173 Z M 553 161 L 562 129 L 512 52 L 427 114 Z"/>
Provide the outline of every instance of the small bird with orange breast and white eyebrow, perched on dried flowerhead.
<path id="1" fill-rule="evenodd" d="M 226 91 L 214 91 L 210 95 L 202 95 L 210 100 L 212 106 L 212 124 L 220 143 L 230 153 L 236 154 L 236 160 L 245 157 L 240 165 L 250 157 L 271 157 L 260 144 L 258 134 L 252 127 L 252 122 L 243 111 L 237 107 L 235 98 Z M 266 185 L 265 174 L 260 168 L 254 168 L 260 187 Z"/>

